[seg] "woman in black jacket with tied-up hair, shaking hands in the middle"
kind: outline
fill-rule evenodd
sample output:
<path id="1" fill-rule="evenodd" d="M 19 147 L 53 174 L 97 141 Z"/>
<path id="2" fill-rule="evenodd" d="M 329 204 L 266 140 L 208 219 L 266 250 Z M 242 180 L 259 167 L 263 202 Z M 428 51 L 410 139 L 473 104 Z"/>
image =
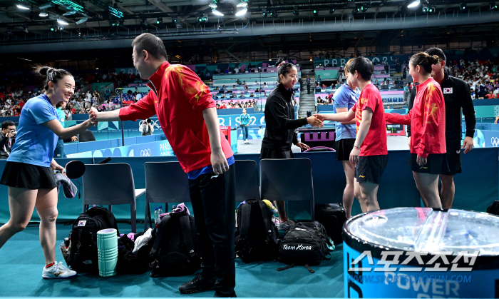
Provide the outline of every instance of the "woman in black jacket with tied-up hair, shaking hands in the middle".
<path id="1" fill-rule="evenodd" d="M 297 68 L 294 64 L 279 64 L 277 87 L 267 97 L 265 103 L 265 135 L 262 140 L 260 159 L 294 158 L 291 146 L 294 144 L 302 150 L 308 149 L 304 143 L 298 142 L 296 128 L 307 125 L 323 127 L 322 121 L 315 116 L 294 119 L 293 87 L 297 82 Z M 309 80 L 309 78 L 307 78 Z M 292 224 L 288 220 L 285 202 L 274 201 L 279 213 L 279 230 L 286 230 Z"/>

